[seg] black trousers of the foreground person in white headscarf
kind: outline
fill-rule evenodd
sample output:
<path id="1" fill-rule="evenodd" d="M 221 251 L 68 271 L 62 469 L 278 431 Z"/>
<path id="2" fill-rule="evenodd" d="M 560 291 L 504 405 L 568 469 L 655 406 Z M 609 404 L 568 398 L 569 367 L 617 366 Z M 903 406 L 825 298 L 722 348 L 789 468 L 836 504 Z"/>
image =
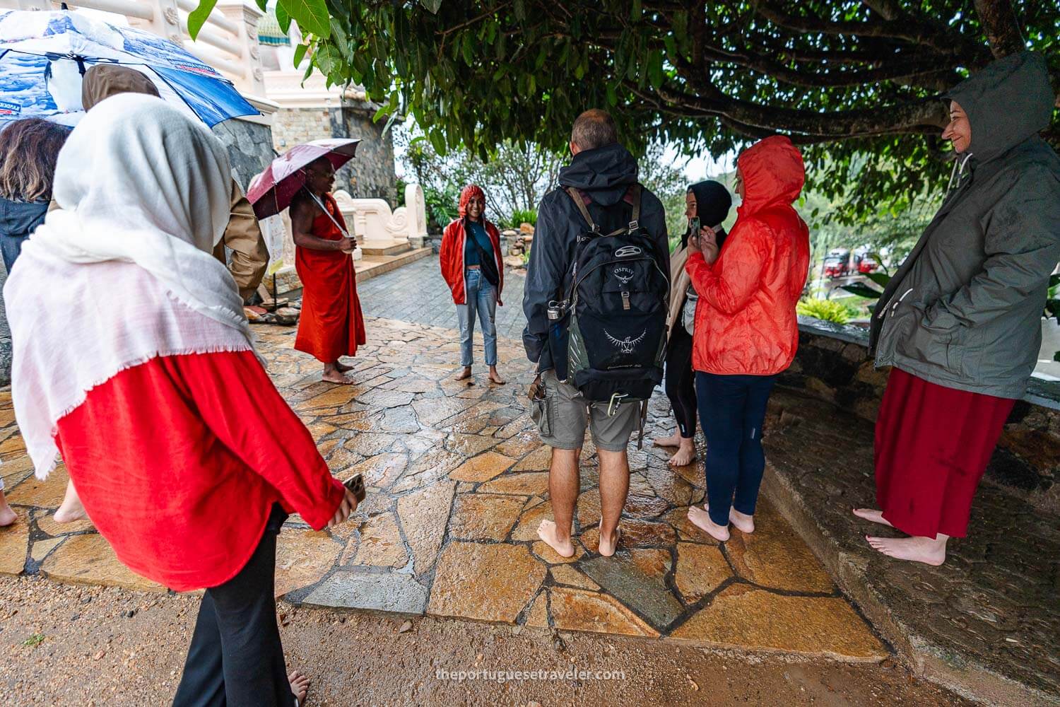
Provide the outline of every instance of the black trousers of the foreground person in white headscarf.
<path id="1" fill-rule="evenodd" d="M 174 707 L 292 707 L 295 695 L 276 624 L 276 536 L 287 514 L 269 513 L 240 573 L 202 596 Z"/>

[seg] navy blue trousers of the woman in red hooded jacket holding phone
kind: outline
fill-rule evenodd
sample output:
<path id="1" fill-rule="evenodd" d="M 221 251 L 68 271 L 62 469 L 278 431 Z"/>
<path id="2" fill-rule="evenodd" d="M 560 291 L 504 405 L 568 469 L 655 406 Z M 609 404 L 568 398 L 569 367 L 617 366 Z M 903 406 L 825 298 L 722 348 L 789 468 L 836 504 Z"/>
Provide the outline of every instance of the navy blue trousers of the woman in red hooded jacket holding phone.
<path id="1" fill-rule="evenodd" d="M 754 515 L 765 471 L 762 423 L 775 375 L 695 372 L 700 423 L 707 440 L 710 519 L 728 525 L 729 508 Z"/>

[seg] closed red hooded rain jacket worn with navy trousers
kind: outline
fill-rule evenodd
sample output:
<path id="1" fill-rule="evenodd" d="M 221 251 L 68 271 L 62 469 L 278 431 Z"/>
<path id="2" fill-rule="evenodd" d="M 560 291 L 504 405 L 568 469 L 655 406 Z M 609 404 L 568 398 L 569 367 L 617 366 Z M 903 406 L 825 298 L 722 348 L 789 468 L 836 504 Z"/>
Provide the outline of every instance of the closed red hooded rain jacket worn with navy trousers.
<path id="1" fill-rule="evenodd" d="M 810 266 L 810 230 L 792 202 L 806 181 L 802 156 L 783 136 L 737 158 L 743 204 L 721 254 L 693 252 L 685 269 L 700 295 L 692 367 L 723 375 L 772 375 L 798 349 L 795 303 Z"/>

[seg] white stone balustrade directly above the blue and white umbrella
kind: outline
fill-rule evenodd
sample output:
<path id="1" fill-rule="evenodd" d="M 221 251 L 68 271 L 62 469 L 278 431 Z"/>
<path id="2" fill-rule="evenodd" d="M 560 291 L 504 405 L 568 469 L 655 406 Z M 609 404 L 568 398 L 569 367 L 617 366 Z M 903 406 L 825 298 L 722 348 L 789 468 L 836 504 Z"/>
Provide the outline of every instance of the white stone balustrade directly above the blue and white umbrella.
<path id="1" fill-rule="evenodd" d="M 254 3 L 219 0 L 196 41 L 188 34 L 188 14 L 198 6 L 198 0 L 66 0 L 66 3 L 74 10 L 122 15 L 130 26 L 187 49 L 229 78 L 251 102 L 265 96 L 258 47 L 258 19 L 263 13 Z M 59 4 L 59 0 L 0 0 L 0 8 L 6 10 L 58 10 Z"/>

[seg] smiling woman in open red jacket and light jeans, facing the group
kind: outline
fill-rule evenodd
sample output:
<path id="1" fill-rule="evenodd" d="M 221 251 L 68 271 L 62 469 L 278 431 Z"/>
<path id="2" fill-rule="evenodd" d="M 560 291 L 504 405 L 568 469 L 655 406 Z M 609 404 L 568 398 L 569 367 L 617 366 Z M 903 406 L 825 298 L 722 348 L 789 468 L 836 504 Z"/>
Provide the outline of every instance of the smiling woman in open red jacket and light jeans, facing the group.
<path id="1" fill-rule="evenodd" d="M 457 381 L 471 377 L 474 360 L 472 340 L 475 315 L 482 322 L 482 342 L 490 381 L 504 385 L 497 373 L 497 326 L 495 315 L 505 286 L 505 263 L 500 255 L 500 232 L 485 219 L 485 194 L 469 184 L 460 192 L 460 217 L 445 227 L 439 260 L 442 277 L 453 290 L 460 322 L 460 365 Z"/>

